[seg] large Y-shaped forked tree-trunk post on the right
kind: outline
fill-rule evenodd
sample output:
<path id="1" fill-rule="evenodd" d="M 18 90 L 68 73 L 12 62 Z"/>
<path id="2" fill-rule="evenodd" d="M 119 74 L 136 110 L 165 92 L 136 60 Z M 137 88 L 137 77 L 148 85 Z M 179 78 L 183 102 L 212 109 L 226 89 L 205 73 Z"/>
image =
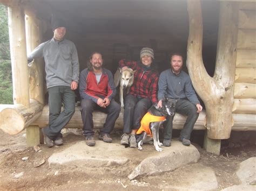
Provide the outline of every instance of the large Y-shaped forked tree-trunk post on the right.
<path id="1" fill-rule="evenodd" d="M 232 128 L 232 105 L 237 45 L 238 7 L 220 2 L 219 38 L 214 76 L 202 59 L 203 22 L 200 1 L 187 1 L 190 32 L 187 41 L 187 68 L 194 88 L 205 103 L 211 139 L 227 139 Z"/>

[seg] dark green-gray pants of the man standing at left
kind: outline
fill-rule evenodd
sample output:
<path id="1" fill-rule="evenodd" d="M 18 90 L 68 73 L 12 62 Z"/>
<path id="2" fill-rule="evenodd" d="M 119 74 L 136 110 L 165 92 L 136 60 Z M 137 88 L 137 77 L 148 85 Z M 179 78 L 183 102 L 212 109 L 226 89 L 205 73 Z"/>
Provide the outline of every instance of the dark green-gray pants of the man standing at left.
<path id="1" fill-rule="evenodd" d="M 75 92 L 69 86 L 48 88 L 49 126 L 43 129 L 44 134 L 52 140 L 62 137 L 60 131 L 69 123 L 75 113 Z M 62 103 L 64 110 L 62 112 Z"/>

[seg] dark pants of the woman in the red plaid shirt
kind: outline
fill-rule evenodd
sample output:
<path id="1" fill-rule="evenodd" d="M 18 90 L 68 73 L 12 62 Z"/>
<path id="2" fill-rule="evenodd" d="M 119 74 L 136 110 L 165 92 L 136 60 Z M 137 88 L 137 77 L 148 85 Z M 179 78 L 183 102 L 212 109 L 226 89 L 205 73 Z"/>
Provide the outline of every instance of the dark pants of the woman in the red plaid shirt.
<path id="1" fill-rule="evenodd" d="M 124 133 L 130 133 L 132 129 L 140 128 L 140 121 L 151 107 L 149 98 L 139 99 L 133 95 L 127 95 L 124 100 Z"/>

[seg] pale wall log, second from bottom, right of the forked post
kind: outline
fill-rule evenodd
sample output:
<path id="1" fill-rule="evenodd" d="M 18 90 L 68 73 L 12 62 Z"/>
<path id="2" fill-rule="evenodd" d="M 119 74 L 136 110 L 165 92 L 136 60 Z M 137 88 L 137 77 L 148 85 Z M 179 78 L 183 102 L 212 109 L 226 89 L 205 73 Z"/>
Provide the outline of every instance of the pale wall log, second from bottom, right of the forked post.
<path id="1" fill-rule="evenodd" d="M 233 114 L 256 114 L 256 99 L 234 99 Z"/>

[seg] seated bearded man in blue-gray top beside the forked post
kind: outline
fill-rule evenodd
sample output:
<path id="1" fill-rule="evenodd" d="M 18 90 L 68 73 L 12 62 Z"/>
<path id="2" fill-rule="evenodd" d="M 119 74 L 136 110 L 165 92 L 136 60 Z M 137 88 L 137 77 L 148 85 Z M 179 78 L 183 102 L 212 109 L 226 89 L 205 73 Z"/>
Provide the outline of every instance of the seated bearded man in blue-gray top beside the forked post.
<path id="1" fill-rule="evenodd" d="M 197 121 L 199 112 L 203 107 L 193 89 L 190 76 L 182 71 L 183 57 L 175 53 L 171 55 L 171 69 L 160 74 L 158 81 L 158 106 L 162 107 L 164 97 L 177 100 L 176 112 L 186 115 L 187 119 L 183 130 L 180 132 L 179 140 L 184 145 L 190 145 L 190 134 Z M 167 118 L 164 123 L 164 146 L 171 146 L 173 116 Z"/>

